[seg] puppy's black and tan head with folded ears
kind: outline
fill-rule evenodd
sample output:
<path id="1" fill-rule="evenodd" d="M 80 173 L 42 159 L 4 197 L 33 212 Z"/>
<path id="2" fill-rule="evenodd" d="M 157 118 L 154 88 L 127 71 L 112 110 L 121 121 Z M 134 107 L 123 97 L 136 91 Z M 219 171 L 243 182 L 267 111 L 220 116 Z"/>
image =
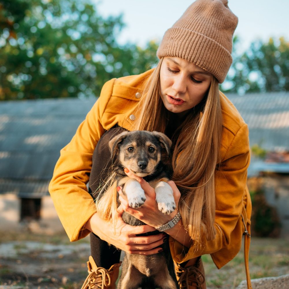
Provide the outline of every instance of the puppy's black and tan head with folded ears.
<path id="1" fill-rule="evenodd" d="M 109 142 L 112 154 L 132 173 L 145 177 L 154 173 L 160 162 L 162 149 L 169 154 L 171 140 L 164 134 L 149 131 L 123 132 Z"/>

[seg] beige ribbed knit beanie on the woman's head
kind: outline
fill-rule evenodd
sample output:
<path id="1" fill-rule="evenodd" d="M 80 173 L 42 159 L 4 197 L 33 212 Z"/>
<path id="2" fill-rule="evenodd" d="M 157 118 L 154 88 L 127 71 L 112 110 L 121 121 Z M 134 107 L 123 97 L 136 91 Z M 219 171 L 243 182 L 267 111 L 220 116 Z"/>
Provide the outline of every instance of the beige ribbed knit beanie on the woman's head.
<path id="1" fill-rule="evenodd" d="M 232 38 L 237 23 L 227 0 L 197 0 L 166 31 L 158 58 L 183 58 L 212 73 L 222 83 L 232 64 Z"/>

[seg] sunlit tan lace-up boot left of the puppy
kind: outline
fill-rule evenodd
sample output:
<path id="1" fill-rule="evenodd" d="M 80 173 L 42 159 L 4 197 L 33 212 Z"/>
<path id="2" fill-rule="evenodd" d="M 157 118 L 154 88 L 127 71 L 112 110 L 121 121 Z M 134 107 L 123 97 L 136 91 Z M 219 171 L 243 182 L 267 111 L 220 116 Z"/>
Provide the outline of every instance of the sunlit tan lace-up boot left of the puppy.
<path id="1" fill-rule="evenodd" d="M 81 289 L 115 289 L 118 278 L 119 266 L 121 262 L 112 265 L 108 270 L 103 267 L 97 267 L 92 256 L 89 256 L 87 262 L 88 276 Z"/>

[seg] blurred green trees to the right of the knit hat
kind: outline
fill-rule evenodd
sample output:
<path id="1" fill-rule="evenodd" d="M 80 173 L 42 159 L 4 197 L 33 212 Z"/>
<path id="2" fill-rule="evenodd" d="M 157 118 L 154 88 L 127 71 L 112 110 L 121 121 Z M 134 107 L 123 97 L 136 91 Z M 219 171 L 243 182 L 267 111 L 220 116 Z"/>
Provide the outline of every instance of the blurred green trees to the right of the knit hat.
<path id="1" fill-rule="evenodd" d="M 234 46 L 240 40 L 234 38 Z M 270 38 L 267 43 L 257 40 L 242 55 L 233 50 L 233 64 L 226 81 L 225 92 L 260 92 L 289 90 L 289 42 L 283 37 Z"/>

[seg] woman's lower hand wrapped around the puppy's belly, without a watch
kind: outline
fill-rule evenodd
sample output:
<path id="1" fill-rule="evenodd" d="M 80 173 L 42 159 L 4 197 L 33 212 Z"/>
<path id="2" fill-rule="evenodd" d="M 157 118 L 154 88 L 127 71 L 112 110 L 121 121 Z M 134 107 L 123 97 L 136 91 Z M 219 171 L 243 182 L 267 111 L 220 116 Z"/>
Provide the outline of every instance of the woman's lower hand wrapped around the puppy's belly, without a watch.
<path id="1" fill-rule="evenodd" d="M 166 234 L 160 233 L 152 236 L 136 236 L 137 234 L 155 231 L 149 225 L 130 226 L 123 222 L 121 215 L 123 209 L 118 208 L 116 226 L 110 221 L 104 221 L 95 213 L 85 227 L 96 234 L 101 240 L 114 245 L 130 254 L 151 255 L 162 251 L 160 247 L 164 243 Z"/>

